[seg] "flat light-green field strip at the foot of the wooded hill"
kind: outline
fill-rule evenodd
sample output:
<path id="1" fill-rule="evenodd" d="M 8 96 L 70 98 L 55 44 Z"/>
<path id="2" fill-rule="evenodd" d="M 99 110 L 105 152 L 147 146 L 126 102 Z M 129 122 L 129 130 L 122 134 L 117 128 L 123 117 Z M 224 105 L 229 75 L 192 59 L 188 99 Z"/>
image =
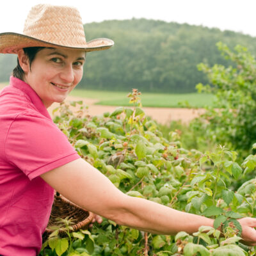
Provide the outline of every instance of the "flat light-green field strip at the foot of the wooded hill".
<path id="1" fill-rule="evenodd" d="M 125 92 L 106 92 L 75 89 L 70 95 L 77 97 L 85 97 L 90 99 L 99 99 L 97 104 L 107 106 L 131 106 L 129 98 Z M 200 93 L 186 94 L 168 94 L 168 93 L 142 93 L 141 102 L 144 107 L 155 108 L 180 108 L 193 106 L 195 108 L 203 108 L 204 106 L 212 106 L 213 95 Z M 180 105 L 182 103 L 182 105 Z"/>

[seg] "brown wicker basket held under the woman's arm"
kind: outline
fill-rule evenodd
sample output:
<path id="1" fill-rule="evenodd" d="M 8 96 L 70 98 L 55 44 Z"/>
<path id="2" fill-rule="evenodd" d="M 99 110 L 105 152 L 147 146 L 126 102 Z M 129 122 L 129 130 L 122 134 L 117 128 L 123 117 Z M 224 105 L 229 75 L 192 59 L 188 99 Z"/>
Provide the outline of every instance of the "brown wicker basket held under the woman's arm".
<path id="1" fill-rule="evenodd" d="M 54 195 L 54 202 L 52 204 L 51 216 L 47 228 L 43 234 L 43 242 L 53 232 L 51 227 L 58 225 L 60 218 L 65 219 L 66 217 L 72 218 L 72 222 L 75 224 L 71 227 L 73 228 L 74 232 L 76 232 L 79 230 L 79 228 L 88 228 L 88 225 L 93 220 L 93 213 L 85 211 L 56 192 Z M 64 230 L 60 230 L 59 235 L 61 237 L 67 236 Z"/>

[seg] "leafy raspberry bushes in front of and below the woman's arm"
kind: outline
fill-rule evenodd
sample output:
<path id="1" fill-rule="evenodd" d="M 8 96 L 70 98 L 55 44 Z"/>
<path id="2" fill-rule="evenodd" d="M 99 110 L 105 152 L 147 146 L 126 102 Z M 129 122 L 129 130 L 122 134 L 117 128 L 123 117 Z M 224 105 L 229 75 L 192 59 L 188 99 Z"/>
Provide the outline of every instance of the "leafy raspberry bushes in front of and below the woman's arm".
<path id="1" fill-rule="evenodd" d="M 248 168 L 255 170 L 256 156 L 249 156 L 240 166 L 236 152 L 225 147 L 205 154 L 186 150 L 177 132 L 166 140 L 157 124 L 145 116 L 137 90 L 129 98 L 133 108 L 117 108 L 102 116 L 84 116 L 82 105 L 74 114 L 61 104 L 54 122 L 81 157 L 127 195 L 215 218 L 214 227 L 162 236 L 104 220 L 92 232 L 81 230 L 74 235 L 68 230 L 65 242 L 53 234 L 42 255 L 55 256 L 56 241 L 65 243 L 59 255 L 254 255 L 253 247 L 239 243 L 237 218 L 255 216 L 256 180 L 248 180 L 237 191 L 232 184 Z"/>

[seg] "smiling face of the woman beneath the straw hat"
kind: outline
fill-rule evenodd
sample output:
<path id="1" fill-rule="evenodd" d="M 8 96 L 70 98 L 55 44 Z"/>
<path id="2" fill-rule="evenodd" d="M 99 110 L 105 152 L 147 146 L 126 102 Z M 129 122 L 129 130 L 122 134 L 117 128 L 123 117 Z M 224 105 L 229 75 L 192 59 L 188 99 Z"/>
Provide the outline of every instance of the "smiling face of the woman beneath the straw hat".
<path id="1" fill-rule="evenodd" d="M 25 73 L 24 81 L 35 90 L 46 108 L 53 102 L 65 100 L 82 79 L 84 51 L 44 48 L 36 53 L 30 67 L 23 50 L 18 56 Z"/>

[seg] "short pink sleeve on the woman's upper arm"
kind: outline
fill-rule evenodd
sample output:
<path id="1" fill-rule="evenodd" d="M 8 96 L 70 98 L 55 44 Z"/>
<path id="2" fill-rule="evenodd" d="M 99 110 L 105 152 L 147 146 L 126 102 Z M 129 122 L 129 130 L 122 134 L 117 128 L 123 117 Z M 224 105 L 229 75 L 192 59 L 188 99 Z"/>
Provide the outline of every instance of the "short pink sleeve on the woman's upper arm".
<path id="1" fill-rule="evenodd" d="M 19 115 L 5 141 L 6 159 L 34 179 L 79 158 L 67 136 L 49 118 Z"/>

